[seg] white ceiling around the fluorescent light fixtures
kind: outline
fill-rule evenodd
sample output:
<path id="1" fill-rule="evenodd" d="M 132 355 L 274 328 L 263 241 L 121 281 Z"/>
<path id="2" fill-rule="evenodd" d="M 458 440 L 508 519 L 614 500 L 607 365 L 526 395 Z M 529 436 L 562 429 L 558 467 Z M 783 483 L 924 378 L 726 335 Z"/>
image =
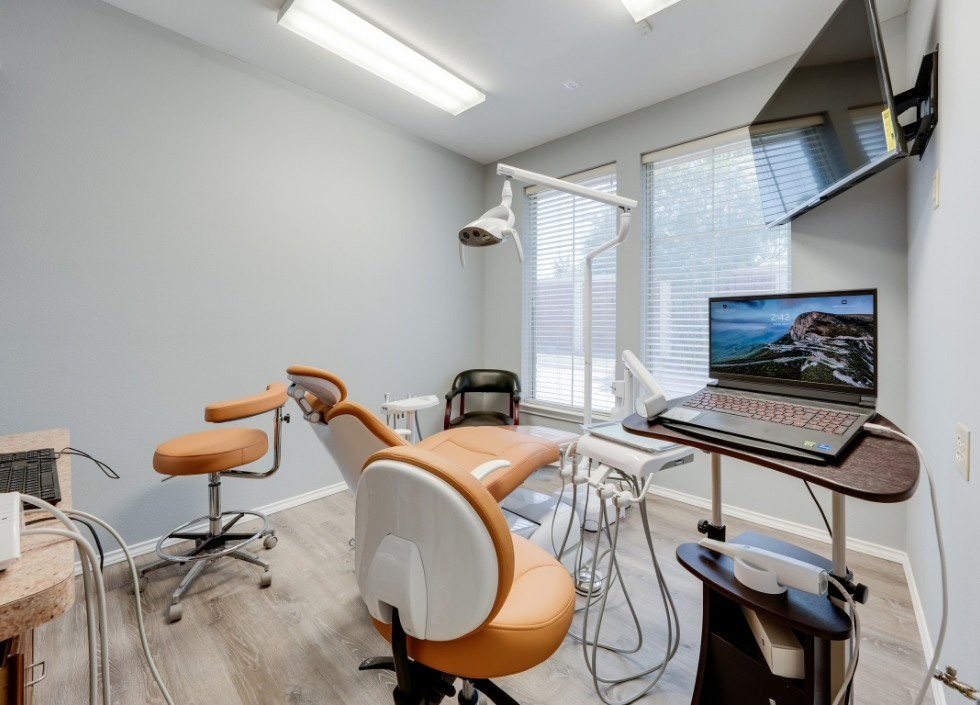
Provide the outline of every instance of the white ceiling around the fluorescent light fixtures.
<path id="1" fill-rule="evenodd" d="M 105 1 L 482 163 L 796 54 L 838 4 L 684 0 L 643 33 L 619 0 L 343 0 L 487 94 L 453 117 L 277 26 L 282 0 Z"/>

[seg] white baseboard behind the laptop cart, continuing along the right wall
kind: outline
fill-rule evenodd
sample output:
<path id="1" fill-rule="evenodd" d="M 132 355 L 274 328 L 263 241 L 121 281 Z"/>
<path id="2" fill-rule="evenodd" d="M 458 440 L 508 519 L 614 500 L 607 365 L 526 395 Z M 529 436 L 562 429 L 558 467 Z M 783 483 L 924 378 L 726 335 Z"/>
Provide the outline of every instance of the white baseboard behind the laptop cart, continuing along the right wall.
<path id="1" fill-rule="evenodd" d="M 650 488 L 650 494 L 663 497 L 665 499 L 672 499 L 677 502 L 682 502 L 683 504 L 690 504 L 695 507 L 700 507 L 701 509 L 711 508 L 711 501 L 706 497 L 699 497 L 697 495 L 672 490 L 666 487 L 653 486 Z M 760 526 L 765 526 L 770 529 L 776 529 L 777 531 L 785 531 L 786 533 L 793 534 L 794 536 L 814 539 L 827 544 L 831 542 L 830 537 L 826 534 L 826 532 L 812 526 L 807 526 L 806 524 L 800 524 L 787 519 L 780 519 L 778 517 L 770 516 L 768 514 L 761 514 L 760 512 L 755 512 L 751 509 L 744 509 L 743 507 L 736 507 L 730 504 L 722 504 L 722 511 L 728 516 L 735 517 L 736 519 L 751 521 L 754 524 L 759 524 Z M 877 544 L 872 541 L 864 541 L 862 539 L 854 539 L 850 537 L 847 539 L 847 548 L 849 551 L 854 551 L 855 553 L 862 553 L 874 558 L 881 558 L 892 563 L 898 563 L 902 566 L 902 569 L 905 572 L 905 580 L 909 586 L 909 597 L 912 601 L 912 612 L 915 615 L 916 626 L 919 629 L 919 638 L 922 641 L 922 653 L 925 656 L 925 663 L 931 663 L 934 653 L 932 639 L 929 636 L 929 625 L 926 622 L 925 609 L 922 606 L 922 597 L 919 594 L 918 584 L 915 582 L 915 575 L 912 572 L 912 564 L 909 560 L 908 553 L 890 546 L 882 546 L 881 544 Z M 932 683 L 932 698 L 935 705 L 946 705 L 946 691 L 943 688 L 942 683 L 939 681 L 933 681 Z"/>

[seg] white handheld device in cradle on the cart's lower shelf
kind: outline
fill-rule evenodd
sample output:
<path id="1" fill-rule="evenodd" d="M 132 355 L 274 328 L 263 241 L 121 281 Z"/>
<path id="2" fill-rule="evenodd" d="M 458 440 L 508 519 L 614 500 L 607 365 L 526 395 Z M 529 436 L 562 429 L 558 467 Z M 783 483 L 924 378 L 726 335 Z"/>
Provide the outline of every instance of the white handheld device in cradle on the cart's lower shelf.
<path id="1" fill-rule="evenodd" d="M 741 543 L 701 539 L 698 544 L 734 560 L 735 577 L 753 590 L 778 594 L 791 587 L 813 595 L 827 592 L 827 571 L 815 565 Z"/>

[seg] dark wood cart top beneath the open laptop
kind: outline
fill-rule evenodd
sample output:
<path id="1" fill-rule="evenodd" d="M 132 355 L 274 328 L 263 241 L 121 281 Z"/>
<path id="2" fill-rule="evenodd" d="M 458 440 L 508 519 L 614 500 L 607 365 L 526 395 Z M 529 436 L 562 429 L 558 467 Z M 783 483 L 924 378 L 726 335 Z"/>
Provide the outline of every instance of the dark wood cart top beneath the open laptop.
<path id="1" fill-rule="evenodd" d="M 883 416 L 875 423 L 898 427 Z M 721 441 L 690 436 L 674 428 L 652 422 L 638 414 L 623 419 L 623 428 L 641 436 L 652 436 L 761 465 L 807 480 L 815 485 L 869 502 L 902 502 L 915 493 L 919 483 L 919 456 L 905 441 L 883 433 L 861 432 L 847 453 L 835 465 L 781 458 Z"/>

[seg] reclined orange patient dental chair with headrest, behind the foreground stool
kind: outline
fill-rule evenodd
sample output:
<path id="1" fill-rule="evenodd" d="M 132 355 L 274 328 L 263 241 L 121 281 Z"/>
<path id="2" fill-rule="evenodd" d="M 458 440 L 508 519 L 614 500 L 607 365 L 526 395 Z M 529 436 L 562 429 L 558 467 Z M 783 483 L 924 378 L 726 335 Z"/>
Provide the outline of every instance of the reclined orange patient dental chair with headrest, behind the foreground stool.
<path id="1" fill-rule="evenodd" d="M 555 553 L 562 545 L 572 509 L 555 506 L 550 495 L 521 489 L 531 474 L 559 459 L 551 441 L 495 427 L 464 427 L 441 431 L 412 446 L 377 416 L 347 399 L 343 380 L 327 370 L 293 365 L 286 371 L 289 395 L 299 405 L 314 433 L 340 468 L 344 482 L 357 493 L 364 463 L 382 450 L 414 447 L 446 458 L 481 477 L 486 490 L 502 504 L 510 530 Z M 508 502 L 515 511 L 508 511 Z M 573 522 L 578 527 L 579 522 Z M 571 567 L 580 540 L 576 530 L 566 542 L 562 561 Z"/>

